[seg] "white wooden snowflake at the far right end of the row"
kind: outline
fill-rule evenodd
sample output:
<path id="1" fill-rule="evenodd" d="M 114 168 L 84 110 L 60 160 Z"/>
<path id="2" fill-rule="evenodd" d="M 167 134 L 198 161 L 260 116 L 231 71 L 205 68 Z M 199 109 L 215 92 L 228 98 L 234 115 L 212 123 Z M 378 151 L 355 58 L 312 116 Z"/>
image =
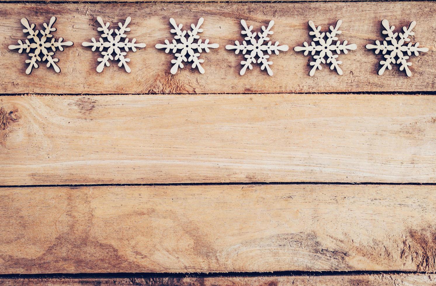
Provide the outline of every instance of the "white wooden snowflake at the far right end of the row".
<path id="1" fill-rule="evenodd" d="M 383 41 L 383 44 L 380 43 L 380 41 L 375 41 L 374 44 L 367 44 L 367 49 L 375 49 L 375 53 L 378 54 L 380 51 L 382 54 L 385 55 L 385 60 L 380 61 L 380 65 L 382 67 L 378 70 L 379 75 L 383 75 L 386 68 L 389 70 L 392 69 L 391 64 L 401 64 L 400 71 L 405 70 L 407 76 L 412 75 L 412 71 L 409 69 L 409 65 L 412 65 L 411 62 L 408 62 L 409 56 L 415 54 L 415 56 L 419 55 L 420 52 L 427 52 L 429 51 L 428 48 L 418 48 L 419 43 L 412 44 L 410 43 L 409 36 L 413 36 L 415 32 L 412 32 L 412 29 L 416 26 L 416 21 L 412 21 L 409 25 L 409 28 L 403 27 L 404 33 L 392 33 L 394 31 L 395 26 L 389 26 L 388 20 L 382 20 L 381 25 L 385 28 L 383 30 L 383 34 L 388 35 L 385 37 L 385 41 Z M 400 36 L 399 39 L 397 39 L 397 36 Z M 391 41 L 391 44 L 388 44 L 387 41 Z M 409 42 L 409 44 L 407 44 Z M 386 52 L 390 51 L 390 53 L 386 54 Z M 407 55 L 405 55 L 407 53 Z"/>

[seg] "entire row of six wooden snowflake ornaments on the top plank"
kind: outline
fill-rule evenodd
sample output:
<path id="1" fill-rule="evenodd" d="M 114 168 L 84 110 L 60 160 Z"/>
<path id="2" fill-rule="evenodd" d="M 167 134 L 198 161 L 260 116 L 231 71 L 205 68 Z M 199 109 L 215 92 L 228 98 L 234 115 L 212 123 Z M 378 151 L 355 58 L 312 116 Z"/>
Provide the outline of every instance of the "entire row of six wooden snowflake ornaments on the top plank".
<path id="1" fill-rule="evenodd" d="M 136 48 L 145 48 L 146 46 L 144 43 L 136 43 L 136 39 L 129 41 L 127 38 L 126 32 L 130 31 L 130 28 L 127 26 L 131 20 L 130 17 L 127 17 L 124 24 L 118 23 L 118 29 L 109 30 L 110 23 L 105 24 L 101 17 L 97 17 L 97 21 L 101 25 L 97 30 L 102 32 L 99 41 L 92 38 L 91 42 L 83 42 L 82 45 L 84 47 L 92 47 L 92 51 L 95 51 L 97 48 L 99 49 L 102 58 L 98 58 L 97 60 L 100 62 L 97 66 L 98 72 L 102 72 L 105 66 L 110 65 L 109 60 L 119 61 L 119 67 L 124 66 L 127 72 L 131 71 L 127 65 L 130 61 L 129 58 L 126 58 L 127 52 L 129 49 L 135 52 Z M 47 67 L 52 66 L 54 71 L 61 71 L 58 65 L 56 65 L 59 59 L 53 58 L 54 52 L 56 49 L 63 51 L 64 46 L 72 46 L 73 42 L 63 42 L 63 38 L 59 38 L 59 40 L 56 41 L 51 34 L 51 32 L 56 31 L 56 28 L 53 27 L 55 21 L 56 17 L 51 17 L 49 24 L 43 24 L 45 29 L 38 31 L 34 30 L 35 24 L 30 25 L 26 18 L 21 19 L 21 24 L 25 27 L 23 32 L 29 35 L 25 42 L 18 40 L 18 45 L 10 45 L 9 49 L 18 49 L 19 53 L 25 50 L 29 55 L 30 59 L 26 60 L 26 63 L 29 64 L 26 69 L 26 74 L 30 74 L 32 68 L 38 68 L 38 61 L 47 61 Z M 173 66 L 170 70 L 172 74 L 175 74 L 179 68 L 184 68 L 184 63 L 186 62 L 191 62 L 192 68 L 198 68 L 200 73 L 204 73 L 204 68 L 201 66 L 204 60 L 199 58 L 200 54 L 203 50 L 208 53 L 211 48 L 218 48 L 218 44 L 209 44 L 209 39 L 206 39 L 204 42 L 200 39 L 200 35 L 198 34 L 203 32 L 203 29 L 200 28 L 203 21 L 204 19 L 200 18 L 197 25 L 191 24 L 192 31 L 182 31 L 182 24 L 177 25 L 176 21 L 170 18 L 170 24 L 174 27 L 170 32 L 175 34 L 174 38 L 171 42 L 165 40 L 164 44 L 157 44 L 156 48 L 165 49 L 166 53 L 171 52 L 174 54 L 175 59 L 171 60 Z M 256 63 L 260 65 L 261 70 L 266 69 L 268 74 L 272 75 L 273 73 L 270 67 L 272 61 L 269 59 L 270 55 L 272 52 L 279 54 L 280 51 L 287 51 L 289 49 L 287 45 L 279 45 L 278 41 L 272 44 L 272 41 L 269 40 L 269 35 L 274 33 L 271 31 L 274 21 L 271 20 L 268 27 L 262 26 L 262 32 L 252 31 L 253 26 L 247 26 L 245 20 L 241 20 L 241 24 L 244 28 L 244 30 L 241 31 L 241 34 L 245 35 L 244 41 L 242 41 L 242 43 L 235 41 L 234 45 L 229 44 L 225 46 L 228 50 L 235 50 L 235 54 L 242 52 L 244 55 L 244 60 L 241 61 L 242 68 L 240 75 L 244 75 L 247 68 L 251 70 L 253 64 Z M 347 54 L 348 51 L 357 49 L 357 45 L 348 44 L 347 41 L 343 41 L 341 44 L 340 41 L 337 41 L 337 35 L 342 33 L 342 31 L 339 30 L 341 24 L 342 20 L 337 20 L 335 27 L 330 26 L 330 31 L 320 32 L 321 26 L 317 27 L 312 20 L 309 21 L 309 26 L 313 30 L 310 31 L 309 34 L 314 36 L 313 41 L 310 44 L 304 42 L 302 47 L 295 47 L 294 50 L 303 51 L 304 55 L 310 53 L 313 57 L 313 61 L 310 62 L 310 65 L 313 66 L 309 72 L 310 76 L 313 76 L 317 69 L 322 68 L 321 64 L 329 64 L 331 70 L 335 69 L 339 75 L 343 74 L 339 67 L 342 61 L 339 61 L 337 58 L 341 52 Z M 429 50 L 428 48 L 419 48 L 419 43 L 410 43 L 409 36 L 415 34 L 412 32 L 412 29 L 415 27 L 416 22 L 412 21 L 409 28 L 403 27 L 403 33 L 394 33 L 395 27 L 389 26 L 388 20 L 382 20 L 381 24 L 385 28 L 382 33 L 387 35 L 385 41 L 381 43 L 377 40 L 375 44 L 366 45 L 367 49 L 375 49 L 376 54 L 380 51 L 384 54 L 385 59 L 380 61 L 382 67 L 378 71 L 378 74 L 382 75 L 386 68 L 389 70 L 392 69 L 391 64 L 398 64 L 400 65 L 400 71 L 405 70 L 406 74 L 411 76 L 412 72 L 409 66 L 412 65 L 412 63 L 407 61 L 409 56 L 412 54 L 418 56 L 419 52 Z M 38 34 L 40 35 L 38 36 Z M 50 38 L 51 41 L 49 41 Z M 32 40 L 32 42 L 29 40 Z M 337 42 L 334 43 L 333 41 Z"/>

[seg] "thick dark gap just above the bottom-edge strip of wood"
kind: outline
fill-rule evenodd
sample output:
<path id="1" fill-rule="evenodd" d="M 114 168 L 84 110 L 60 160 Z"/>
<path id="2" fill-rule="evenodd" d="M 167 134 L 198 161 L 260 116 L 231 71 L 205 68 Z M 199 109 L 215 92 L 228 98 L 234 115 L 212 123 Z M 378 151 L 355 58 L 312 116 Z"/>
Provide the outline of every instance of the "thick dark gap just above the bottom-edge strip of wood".
<path id="1" fill-rule="evenodd" d="M 0 274 L 0 279 L 86 279 L 86 278 L 212 278 L 212 277 L 271 277 L 271 276 L 355 276 L 395 274 L 435 274 L 434 271 L 274 271 L 274 272 L 209 272 L 209 273 L 50 273 L 50 274 Z"/>

